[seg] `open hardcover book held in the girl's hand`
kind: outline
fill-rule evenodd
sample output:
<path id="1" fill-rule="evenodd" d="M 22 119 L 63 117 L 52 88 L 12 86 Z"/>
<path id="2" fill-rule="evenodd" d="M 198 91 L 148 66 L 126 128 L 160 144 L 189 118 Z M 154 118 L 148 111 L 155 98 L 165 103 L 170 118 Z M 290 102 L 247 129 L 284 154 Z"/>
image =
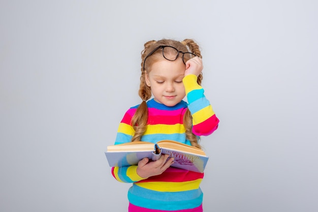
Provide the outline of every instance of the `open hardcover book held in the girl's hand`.
<path id="1" fill-rule="evenodd" d="M 200 173 L 203 173 L 209 159 L 202 149 L 173 140 L 162 140 L 157 143 L 133 141 L 109 145 L 105 152 L 110 167 L 137 165 L 143 158 L 155 161 L 162 154 L 174 158 L 172 167 Z"/>

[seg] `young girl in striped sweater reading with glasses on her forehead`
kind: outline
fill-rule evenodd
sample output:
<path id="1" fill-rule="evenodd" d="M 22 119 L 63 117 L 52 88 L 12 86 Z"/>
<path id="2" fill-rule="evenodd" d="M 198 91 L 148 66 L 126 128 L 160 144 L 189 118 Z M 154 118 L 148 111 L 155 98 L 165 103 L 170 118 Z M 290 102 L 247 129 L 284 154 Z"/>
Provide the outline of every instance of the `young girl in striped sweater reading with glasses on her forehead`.
<path id="1" fill-rule="evenodd" d="M 219 120 L 201 87 L 199 46 L 190 39 L 164 39 L 144 47 L 139 88 L 143 101 L 124 114 L 115 144 L 175 140 L 200 148 L 200 136 L 213 133 Z M 144 158 L 135 166 L 112 167 L 118 181 L 133 183 L 130 212 L 203 211 L 203 173 L 170 167 L 172 163 L 173 158 L 163 155 L 157 161 Z"/>

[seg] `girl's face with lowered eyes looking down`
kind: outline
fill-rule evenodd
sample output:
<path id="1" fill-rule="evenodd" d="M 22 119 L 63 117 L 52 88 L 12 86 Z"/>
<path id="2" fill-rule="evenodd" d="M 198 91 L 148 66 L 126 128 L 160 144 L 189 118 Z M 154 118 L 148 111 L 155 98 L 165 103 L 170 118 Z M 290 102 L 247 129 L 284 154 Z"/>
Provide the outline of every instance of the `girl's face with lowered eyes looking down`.
<path id="1" fill-rule="evenodd" d="M 145 73 L 146 84 L 151 87 L 154 100 L 166 106 L 175 106 L 185 97 L 182 82 L 185 65 L 181 58 L 175 61 L 159 60 Z"/>

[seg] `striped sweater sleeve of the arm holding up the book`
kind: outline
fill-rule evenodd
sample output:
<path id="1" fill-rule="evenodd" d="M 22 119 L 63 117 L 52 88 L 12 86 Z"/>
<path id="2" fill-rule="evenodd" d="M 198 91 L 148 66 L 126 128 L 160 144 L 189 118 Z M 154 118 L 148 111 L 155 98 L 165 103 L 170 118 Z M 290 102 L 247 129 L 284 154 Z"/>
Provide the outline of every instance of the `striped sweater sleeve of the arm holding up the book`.
<path id="1" fill-rule="evenodd" d="M 135 130 L 130 123 L 135 111 L 136 109 L 130 108 L 124 114 L 118 127 L 115 145 L 131 142 Z M 111 173 L 115 179 L 122 183 L 135 183 L 144 179 L 137 174 L 137 166 L 112 167 Z"/>

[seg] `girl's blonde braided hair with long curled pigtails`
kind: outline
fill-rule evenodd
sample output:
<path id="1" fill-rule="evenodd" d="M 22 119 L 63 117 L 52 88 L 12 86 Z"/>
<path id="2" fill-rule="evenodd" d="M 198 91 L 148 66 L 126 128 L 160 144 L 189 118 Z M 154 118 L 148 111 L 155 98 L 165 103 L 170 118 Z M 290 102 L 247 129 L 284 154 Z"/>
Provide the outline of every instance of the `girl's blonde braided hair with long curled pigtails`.
<path id="1" fill-rule="evenodd" d="M 152 40 L 144 44 L 145 48 L 141 52 L 141 60 L 142 60 L 141 76 L 140 76 L 140 86 L 139 86 L 139 92 L 138 92 L 140 98 L 143 101 L 137 108 L 136 113 L 132 118 L 131 124 L 135 130 L 135 135 L 133 136 L 132 141 L 140 140 L 142 135 L 146 131 L 147 119 L 148 119 L 148 107 L 147 107 L 146 101 L 151 98 L 151 88 L 146 85 L 145 72 L 149 69 L 149 67 L 153 63 L 157 62 L 161 58 L 160 57 L 161 51 L 156 51 L 152 55 L 148 56 L 145 64 L 144 64 L 144 59 L 152 50 L 162 45 L 173 46 L 179 51 L 183 51 L 183 52 L 192 52 L 202 58 L 201 51 L 199 49 L 198 44 L 192 39 L 185 39 L 181 42 L 170 40 L 170 39 L 163 39 L 160 41 Z M 145 67 L 145 70 L 143 67 Z M 197 80 L 199 85 L 201 85 L 202 79 L 203 79 L 203 76 L 201 73 L 198 76 L 198 80 Z M 193 146 L 201 148 L 198 143 L 197 136 L 193 134 L 192 132 L 192 127 L 193 127 L 192 115 L 188 109 L 186 109 L 183 115 L 183 126 L 185 128 L 186 138 L 191 142 Z"/>

